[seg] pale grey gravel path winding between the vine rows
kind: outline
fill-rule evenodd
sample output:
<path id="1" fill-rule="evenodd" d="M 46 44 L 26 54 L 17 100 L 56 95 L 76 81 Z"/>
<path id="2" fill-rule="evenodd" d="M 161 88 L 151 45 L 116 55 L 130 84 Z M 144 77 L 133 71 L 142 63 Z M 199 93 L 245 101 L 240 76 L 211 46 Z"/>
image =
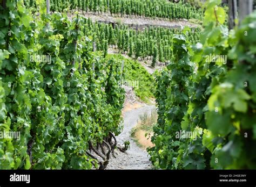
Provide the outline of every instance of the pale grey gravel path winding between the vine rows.
<path id="1" fill-rule="evenodd" d="M 151 162 L 146 150 L 139 148 L 136 142 L 130 136 L 132 127 L 136 126 L 139 119 L 139 115 L 144 112 L 151 111 L 155 108 L 154 105 L 145 105 L 139 109 L 134 109 L 124 113 L 124 129 L 121 134 L 116 138 L 120 145 L 123 145 L 124 141 L 130 141 L 130 149 L 126 153 L 115 150 L 114 155 L 111 156 L 109 164 L 106 169 L 151 169 Z"/>

